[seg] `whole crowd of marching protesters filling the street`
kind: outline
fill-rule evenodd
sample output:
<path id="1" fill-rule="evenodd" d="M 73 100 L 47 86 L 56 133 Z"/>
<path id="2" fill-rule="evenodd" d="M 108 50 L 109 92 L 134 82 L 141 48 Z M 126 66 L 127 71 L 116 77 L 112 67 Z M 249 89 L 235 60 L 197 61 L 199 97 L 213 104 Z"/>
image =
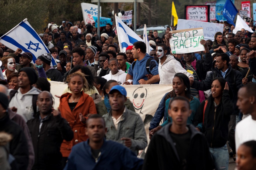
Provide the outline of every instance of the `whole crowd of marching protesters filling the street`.
<path id="1" fill-rule="evenodd" d="M 185 54 L 171 53 L 173 26 L 161 38 L 149 31 L 147 54 L 142 41 L 120 52 L 115 27 L 98 35 L 94 24 L 49 23 L 39 36 L 50 53 L 34 64 L 30 52 L 0 43 L 1 170 L 218 170 L 228 169 L 229 157 L 237 169 L 255 169 L 253 23 L 255 32 L 234 34 L 224 22 L 214 41 L 200 41 L 204 51 Z M 57 110 L 49 81 L 67 83 Z M 124 88 L 136 84 L 173 87 L 153 94 L 164 97 L 149 134 Z"/>

